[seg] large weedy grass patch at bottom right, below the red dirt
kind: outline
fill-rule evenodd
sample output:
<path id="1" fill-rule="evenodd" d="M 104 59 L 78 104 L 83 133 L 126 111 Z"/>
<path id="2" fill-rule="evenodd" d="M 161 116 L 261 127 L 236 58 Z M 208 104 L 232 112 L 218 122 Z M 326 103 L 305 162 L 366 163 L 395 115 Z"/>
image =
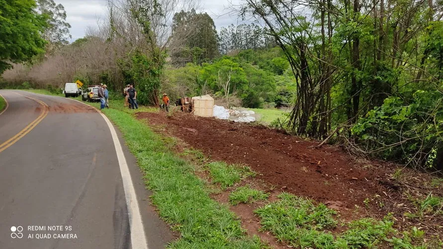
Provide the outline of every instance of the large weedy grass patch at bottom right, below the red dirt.
<path id="1" fill-rule="evenodd" d="M 333 235 L 327 229 L 337 226 L 336 212 L 311 200 L 282 193 L 277 201 L 255 210 L 261 218 L 263 231 L 271 232 L 278 241 L 299 248 L 360 249 L 377 248 L 382 243 L 394 249 L 426 249 L 424 232 L 399 233 L 393 229 L 393 218 L 382 221 L 364 218 L 343 225 L 348 229 Z"/>

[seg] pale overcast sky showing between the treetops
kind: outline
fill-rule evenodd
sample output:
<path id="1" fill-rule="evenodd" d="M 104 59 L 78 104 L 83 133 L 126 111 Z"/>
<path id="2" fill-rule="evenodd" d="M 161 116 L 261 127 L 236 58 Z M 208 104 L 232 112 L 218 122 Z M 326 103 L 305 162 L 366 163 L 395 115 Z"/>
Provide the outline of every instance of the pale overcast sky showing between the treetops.
<path id="1" fill-rule="evenodd" d="M 240 0 L 234 0 L 239 2 Z M 71 24 L 72 41 L 85 36 L 88 26 L 97 27 L 97 20 L 103 20 L 106 14 L 107 0 L 55 0 L 65 6 L 67 21 Z M 214 19 L 215 26 L 228 26 L 237 21 L 236 16 L 230 16 L 226 9 L 229 0 L 201 0 L 201 11 L 207 12 Z"/>

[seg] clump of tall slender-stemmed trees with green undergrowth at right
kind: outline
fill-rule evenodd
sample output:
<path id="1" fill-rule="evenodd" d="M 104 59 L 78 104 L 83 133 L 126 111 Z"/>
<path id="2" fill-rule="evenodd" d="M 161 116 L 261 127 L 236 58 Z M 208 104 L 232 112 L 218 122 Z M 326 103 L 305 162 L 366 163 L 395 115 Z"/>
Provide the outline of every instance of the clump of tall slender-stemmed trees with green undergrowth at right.
<path id="1" fill-rule="evenodd" d="M 284 128 L 344 138 L 360 155 L 435 166 L 443 157 L 440 3 L 245 0 L 237 10 L 264 23 L 289 62 L 296 98 Z M 242 45 L 236 34 L 231 46 Z"/>

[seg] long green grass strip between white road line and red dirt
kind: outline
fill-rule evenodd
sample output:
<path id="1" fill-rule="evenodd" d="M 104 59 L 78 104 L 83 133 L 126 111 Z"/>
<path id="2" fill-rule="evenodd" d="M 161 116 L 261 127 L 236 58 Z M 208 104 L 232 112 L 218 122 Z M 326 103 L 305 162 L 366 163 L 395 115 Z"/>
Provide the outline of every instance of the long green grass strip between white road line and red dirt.
<path id="1" fill-rule="evenodd" d="M 245 235 L 234 213 L 209 197 L 194 167 L 171 153 L 159 135 L 128 110 L 103 112 L 119 127 L 137 158 L 160 216 L 181 235 L 169 248 L 265 247 L 258 238 Z"/>

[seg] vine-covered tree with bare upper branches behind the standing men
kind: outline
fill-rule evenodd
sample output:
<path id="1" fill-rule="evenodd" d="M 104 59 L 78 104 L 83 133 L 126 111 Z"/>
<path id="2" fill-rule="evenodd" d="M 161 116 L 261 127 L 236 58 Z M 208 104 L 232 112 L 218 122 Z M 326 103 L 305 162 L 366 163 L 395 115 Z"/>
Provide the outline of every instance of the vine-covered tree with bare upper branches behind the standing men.
<path id="1" fill-rule="evenodd" d="M 192 0 L 108 0 L 103 33 L 123 75 L 118 83 L 135 83 L 141 104 L 159 105 L 174 13 L 192 7 Z"/>

